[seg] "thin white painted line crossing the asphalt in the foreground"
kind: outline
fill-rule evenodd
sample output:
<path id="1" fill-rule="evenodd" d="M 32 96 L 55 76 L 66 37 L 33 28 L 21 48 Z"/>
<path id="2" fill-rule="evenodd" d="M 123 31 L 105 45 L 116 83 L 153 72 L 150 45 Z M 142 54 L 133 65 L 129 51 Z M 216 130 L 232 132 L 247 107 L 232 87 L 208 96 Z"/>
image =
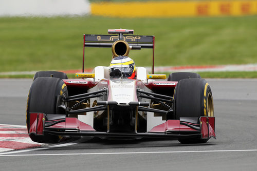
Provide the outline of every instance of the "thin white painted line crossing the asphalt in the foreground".
<path id="1" fill-rule="evenodd" d="M 43 149 L 43 148 L 42 148 Z M 205 150 L 205 151 L 149 151 L 149 152 L 124 152 L 124 153 L 68 153 L 68 154 L 28 154 L 28 155 L 3 155 L 4 156 L 78 156 L 78 155 L 131 155 L 131 154 L 167 154 L 167 153 L 213 153 L 213 152 L 245 152 L 257 151 L 257 149 L 238 149 L 238 150 Z M 24 150 L 24 152 L 26 152 Z"/>

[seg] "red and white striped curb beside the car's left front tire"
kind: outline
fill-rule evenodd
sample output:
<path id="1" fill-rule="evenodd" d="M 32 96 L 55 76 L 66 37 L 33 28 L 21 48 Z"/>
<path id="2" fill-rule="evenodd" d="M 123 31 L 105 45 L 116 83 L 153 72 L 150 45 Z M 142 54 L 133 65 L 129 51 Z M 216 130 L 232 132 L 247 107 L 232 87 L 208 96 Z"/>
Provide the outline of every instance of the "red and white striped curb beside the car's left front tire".
<path id="1" fill-rule="evenodd" d="M 0 124 L 0 153 L 42 145 L 46 144 L 33 142 L 29 138 L 26 126 Z"/>

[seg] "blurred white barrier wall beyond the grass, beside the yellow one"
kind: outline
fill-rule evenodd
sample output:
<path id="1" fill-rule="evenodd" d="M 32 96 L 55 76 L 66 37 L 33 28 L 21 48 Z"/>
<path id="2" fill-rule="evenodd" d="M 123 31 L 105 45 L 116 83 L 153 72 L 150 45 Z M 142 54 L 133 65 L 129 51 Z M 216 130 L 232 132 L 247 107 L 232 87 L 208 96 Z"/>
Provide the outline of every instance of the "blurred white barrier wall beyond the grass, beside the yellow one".
<path id="1" fill-rule="evenodd" d="M 0 0 L 0 16 L 85 15 L 86 0 Z"/>

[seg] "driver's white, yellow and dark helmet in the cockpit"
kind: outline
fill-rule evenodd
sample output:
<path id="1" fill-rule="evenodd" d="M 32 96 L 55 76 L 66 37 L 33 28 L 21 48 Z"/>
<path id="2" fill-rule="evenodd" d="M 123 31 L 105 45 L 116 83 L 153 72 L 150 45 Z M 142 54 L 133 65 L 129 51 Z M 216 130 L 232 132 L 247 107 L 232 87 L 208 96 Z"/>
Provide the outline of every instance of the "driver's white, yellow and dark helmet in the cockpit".
<path id="1" fill-rule="evenodd" d="M 111 64 L 109 65 L 109 72 L 111 73 L 115 69 L 120 70 L 120 72 L 128 79 L 135 78 L 136 66 L 134 61 L 128 56 L 117 56 L 116 58 L 114 58 Z M 111 76 L 111 78 L 114 78 L 114 77 Z"/>

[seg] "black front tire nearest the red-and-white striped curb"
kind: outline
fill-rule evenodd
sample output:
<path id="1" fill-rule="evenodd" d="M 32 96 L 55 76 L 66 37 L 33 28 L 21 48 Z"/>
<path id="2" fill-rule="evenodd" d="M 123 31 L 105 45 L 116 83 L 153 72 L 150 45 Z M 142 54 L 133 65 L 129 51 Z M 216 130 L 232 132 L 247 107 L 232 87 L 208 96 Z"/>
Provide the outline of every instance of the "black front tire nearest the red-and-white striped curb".
<path id="1" fill-rule="evenodd" d="M 40 77 L 32 83 L 27 99 L 27 129 L 29 131 L 30 112 L 42 112 L 49 114 L 65 114 L 64 109 L 59 108 L 58 95 L 68 96 L 68 90 L 63 80 L 51 77 Z M 36 136 L 30 134 L 29 137 L 34 142 L 39 143 L 58 143 L 59 136 L 43 135 Z"/>

